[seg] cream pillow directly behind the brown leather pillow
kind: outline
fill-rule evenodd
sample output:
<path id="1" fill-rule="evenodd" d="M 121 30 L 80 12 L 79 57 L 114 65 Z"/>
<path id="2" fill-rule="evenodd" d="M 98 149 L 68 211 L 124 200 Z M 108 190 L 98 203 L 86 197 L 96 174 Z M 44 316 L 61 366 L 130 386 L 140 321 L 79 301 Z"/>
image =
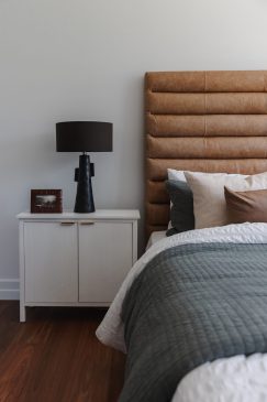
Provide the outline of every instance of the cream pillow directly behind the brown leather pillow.
<path id="1" fill-rule="evenodd" d="M 193 193 L 196 229 L 227 224 L 224 186 L 236 192 L 267 188 L 267 172 L 246 175 L 185 172 Z"/>

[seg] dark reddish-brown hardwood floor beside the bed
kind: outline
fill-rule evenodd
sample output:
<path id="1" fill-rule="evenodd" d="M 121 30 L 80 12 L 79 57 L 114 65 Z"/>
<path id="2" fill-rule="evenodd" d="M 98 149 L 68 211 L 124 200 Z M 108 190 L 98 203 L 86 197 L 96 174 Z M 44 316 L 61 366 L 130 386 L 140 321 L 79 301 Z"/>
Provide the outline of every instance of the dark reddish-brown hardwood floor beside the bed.
<path id="1" fill-rule="evenodd" d="M 101 345 L 94 330 L 104 311 L 27 308 L 0 301 L 0 402 L 115 402 L 124 355 Z"/>

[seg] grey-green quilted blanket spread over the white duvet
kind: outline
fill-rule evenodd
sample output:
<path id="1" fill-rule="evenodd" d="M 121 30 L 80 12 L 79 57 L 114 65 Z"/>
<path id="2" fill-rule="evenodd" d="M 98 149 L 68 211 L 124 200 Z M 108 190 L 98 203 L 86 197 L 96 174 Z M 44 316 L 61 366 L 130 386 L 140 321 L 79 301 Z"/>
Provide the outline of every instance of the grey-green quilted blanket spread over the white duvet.
<path id="1" fill-rule="evenodd" d="M 267 245 L 199 243 L 156 256 L 129 291 L 120 402 L 170 401 L 205 361 L 267 351 Z"/>

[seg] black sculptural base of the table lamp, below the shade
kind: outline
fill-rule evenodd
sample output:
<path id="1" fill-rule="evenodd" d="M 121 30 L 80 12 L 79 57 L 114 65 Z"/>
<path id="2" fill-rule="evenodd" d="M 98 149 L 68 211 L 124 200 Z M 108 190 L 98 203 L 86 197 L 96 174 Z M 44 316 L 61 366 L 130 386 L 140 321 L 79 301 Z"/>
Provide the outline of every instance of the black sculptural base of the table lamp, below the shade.
<path id="1" fill-rule="evenodd" d="M 78 182 L 75 202 L 75 213 L 90 214 L 94 213 L 94 203 L 92 196 L 92 183 L 90 156 L 84 153 L 79 156 L 79 169 L 75 172 L 75 180 Z"/>

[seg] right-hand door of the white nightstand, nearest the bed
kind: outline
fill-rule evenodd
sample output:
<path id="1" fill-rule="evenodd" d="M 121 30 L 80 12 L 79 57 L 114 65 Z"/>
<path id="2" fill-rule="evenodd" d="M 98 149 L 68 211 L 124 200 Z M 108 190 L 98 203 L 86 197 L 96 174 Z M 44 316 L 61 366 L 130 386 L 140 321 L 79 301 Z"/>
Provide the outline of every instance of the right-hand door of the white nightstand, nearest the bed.
<path id="1" fill-rule="evenodd" d="M 132 264 L 132 222 L 79 225 L 79 302 L 111 303 Z"/>

